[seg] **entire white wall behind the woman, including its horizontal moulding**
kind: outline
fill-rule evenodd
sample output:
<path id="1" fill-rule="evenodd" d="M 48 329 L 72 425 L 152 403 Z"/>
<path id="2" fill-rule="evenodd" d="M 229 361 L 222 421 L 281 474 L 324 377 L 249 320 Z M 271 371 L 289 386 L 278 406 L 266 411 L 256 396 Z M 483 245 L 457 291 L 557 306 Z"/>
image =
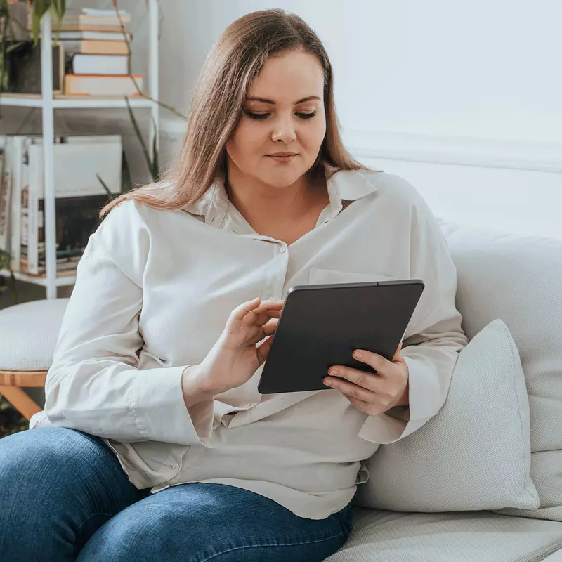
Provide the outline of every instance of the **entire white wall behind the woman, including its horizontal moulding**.
<path id="1" fill-rule="evenodd" d="M 325 42 L 363 162 L 407 178 L 445 218 L 562 237 L 561 2 L 162 0 L 163 100 L 185 112 L 224 27 L 274 7 Z M 185 124 L 162 117 L 166 160 Z"/>

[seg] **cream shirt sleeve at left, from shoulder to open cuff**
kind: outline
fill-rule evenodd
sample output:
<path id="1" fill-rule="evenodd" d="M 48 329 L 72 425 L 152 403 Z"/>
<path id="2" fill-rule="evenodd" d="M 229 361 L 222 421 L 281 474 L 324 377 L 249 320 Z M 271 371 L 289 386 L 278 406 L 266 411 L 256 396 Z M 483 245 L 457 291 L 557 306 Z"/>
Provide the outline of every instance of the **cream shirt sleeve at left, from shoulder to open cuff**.
<path id="1" fill-rule="evenodd" d="M 78 264 L 44 410 L 54 426 L 123 443 L 199 444 L 210 432 L 212 401 L 190 408 L 199 416 L 192 419 L 181 388 L 187 365 L 137 368 L 150 234 L 134 205 L 124 202 L 110 212 Z"/>

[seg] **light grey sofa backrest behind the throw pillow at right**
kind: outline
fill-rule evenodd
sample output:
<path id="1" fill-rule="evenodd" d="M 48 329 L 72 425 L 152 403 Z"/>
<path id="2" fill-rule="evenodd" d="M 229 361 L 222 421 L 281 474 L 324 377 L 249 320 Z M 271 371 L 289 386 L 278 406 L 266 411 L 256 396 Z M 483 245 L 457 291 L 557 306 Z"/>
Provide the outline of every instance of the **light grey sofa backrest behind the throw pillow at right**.
<path id="1" fill-rule="evenodd" d="M 441 221 L 457 266 L 457 308 L 472 338 L 495 318 L 514 337 L 530 404 L 531 478 L 539 509 L 502 513 L 562 521 L 562 242 Z"/>

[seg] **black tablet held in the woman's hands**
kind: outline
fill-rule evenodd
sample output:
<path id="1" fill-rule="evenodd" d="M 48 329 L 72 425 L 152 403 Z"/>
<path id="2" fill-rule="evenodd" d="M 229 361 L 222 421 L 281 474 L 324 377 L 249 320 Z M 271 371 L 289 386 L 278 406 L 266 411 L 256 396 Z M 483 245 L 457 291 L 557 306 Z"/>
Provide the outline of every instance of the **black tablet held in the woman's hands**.
<path id="1" fill-rule="evenodd" d="M 328 389 L 322 379 L 332 365 L 375 373 L 355 360 L 353 351 L 365 349 L 391 360 L 423 291 L 419 279 L 292 287 L 259 393 Z"/>

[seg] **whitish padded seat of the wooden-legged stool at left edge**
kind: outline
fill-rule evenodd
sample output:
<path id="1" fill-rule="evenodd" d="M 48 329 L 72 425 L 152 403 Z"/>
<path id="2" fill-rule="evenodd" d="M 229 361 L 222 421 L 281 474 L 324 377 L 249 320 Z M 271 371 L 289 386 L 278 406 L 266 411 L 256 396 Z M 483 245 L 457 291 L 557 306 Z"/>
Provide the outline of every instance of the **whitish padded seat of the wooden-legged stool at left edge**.
<path id="1" fill-rule="evenodd" d="M 0 311 L 0 370 L 46 371 L 51 367 L 68 301 L 32 301 Z"/>

